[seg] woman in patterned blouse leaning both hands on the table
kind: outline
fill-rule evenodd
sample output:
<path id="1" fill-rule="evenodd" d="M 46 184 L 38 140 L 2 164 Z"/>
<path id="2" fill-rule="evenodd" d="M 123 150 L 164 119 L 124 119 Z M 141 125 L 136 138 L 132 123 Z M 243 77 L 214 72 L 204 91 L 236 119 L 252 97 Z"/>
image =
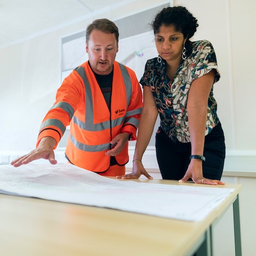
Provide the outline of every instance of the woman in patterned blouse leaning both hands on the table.
<path id="1" fill-rule="evenodd" d="M 142 156 L 159 113 L 156 156 L 162 178 L 224 184 L 224 134 L 212 92 L 220 79 L 214 48 L 206 40 L 190 41 L 198 23 L 185 7 L 164 8 L 152 27 L 159 57 L 147 61 L 140 81 L 144 103 L 133 171 L 117 178 L 152 179 Z"/>

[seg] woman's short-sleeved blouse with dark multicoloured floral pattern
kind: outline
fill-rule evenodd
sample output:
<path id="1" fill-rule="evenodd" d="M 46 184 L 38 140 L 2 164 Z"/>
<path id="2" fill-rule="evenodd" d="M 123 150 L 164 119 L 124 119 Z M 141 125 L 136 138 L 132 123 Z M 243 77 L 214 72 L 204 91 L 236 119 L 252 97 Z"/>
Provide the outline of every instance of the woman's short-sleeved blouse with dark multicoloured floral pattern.
<path id="1" fill-rule="evenodd" d="M 149 59 L 145 65 L 144 75 L 140 83 L 148 86 L 154 96 L 160 114 L 160 126 L 174 142 L 190 142 L 190 131 L 187 117 L 187 97 L 191 83 L 199 77 L 216 70 L 215 81 L 220 80 L 220 72 L 214 48 L 209 41 L 191 42 L 191 54 L 182 60 L 176 71 L 173 82 L 166 74 L 166 62 L 157 58 Z M 220 121 L 217 117 L 217 103 L 211 88 L 208 99 L 208 114 L 205 135 L 211 132 Z"/>

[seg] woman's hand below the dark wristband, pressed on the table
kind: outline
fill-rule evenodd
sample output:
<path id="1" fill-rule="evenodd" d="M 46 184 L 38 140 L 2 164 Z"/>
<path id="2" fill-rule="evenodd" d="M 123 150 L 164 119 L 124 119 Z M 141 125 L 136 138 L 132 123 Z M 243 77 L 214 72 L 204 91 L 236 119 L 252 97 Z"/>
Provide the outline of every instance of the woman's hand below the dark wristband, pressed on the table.
<path id="1" fill-rule="evenodd" d="M 202 160 L 193 159 L 188 165 L 187 171 L 184 177 L 179 182 L 186 182 L 188 179 L 192 179 L 197 184 L 208 185 L 224 185 L 225 183 L 220 180 L 206 179 L 203 176 Z"/>

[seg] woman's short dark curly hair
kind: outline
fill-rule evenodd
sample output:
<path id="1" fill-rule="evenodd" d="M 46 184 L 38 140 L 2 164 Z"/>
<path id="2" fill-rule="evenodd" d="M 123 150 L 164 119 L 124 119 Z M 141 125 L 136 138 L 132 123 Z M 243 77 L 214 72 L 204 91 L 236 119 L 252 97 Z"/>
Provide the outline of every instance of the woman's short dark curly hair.
<path id="1" fill-rule="evenodd" d="M 158 13 L 155 20 L 151 23 L 154 34 L 159 32 L 160 27 L 173 25 L 177 32 L 181 32 L 187 41 L 197 31 L 197 19 L 182 6 L 167 7 Z"/>

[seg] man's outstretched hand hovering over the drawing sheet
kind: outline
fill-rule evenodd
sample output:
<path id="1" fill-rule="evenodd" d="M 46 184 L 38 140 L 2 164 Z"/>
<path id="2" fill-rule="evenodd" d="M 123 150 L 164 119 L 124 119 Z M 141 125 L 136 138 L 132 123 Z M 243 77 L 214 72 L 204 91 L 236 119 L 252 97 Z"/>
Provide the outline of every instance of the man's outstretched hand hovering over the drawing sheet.
<path id="1" fill-rule="evenodd" d="M 47 159 L 51 164 L 56 164 L 53 147 L 56 141 L 52 137 L 42 138 L 38 147 L 32 150 L 29 154 L 21 156 L 11 162 L 14 167 L 19 167 L 22 164 L 27 164 L 38 159 Z"/>

